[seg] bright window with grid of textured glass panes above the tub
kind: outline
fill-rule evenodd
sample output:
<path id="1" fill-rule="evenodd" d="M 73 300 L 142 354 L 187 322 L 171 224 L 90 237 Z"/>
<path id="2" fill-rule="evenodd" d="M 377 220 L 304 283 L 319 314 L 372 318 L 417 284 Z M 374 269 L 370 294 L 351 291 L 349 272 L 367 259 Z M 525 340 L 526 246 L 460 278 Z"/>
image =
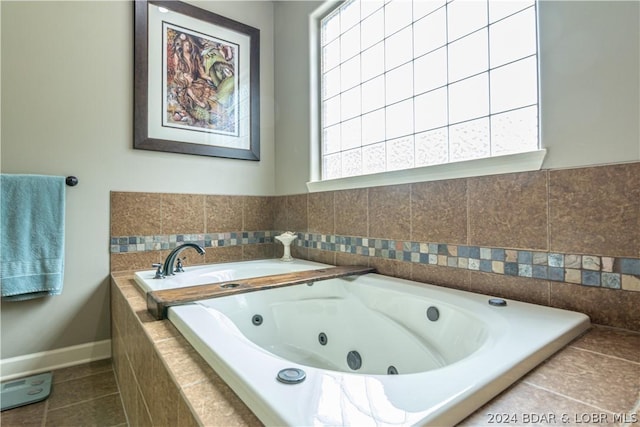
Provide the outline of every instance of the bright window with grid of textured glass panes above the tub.
<path id="1" fill-rule="evenodd" d="M 320 34 L 322 179 L 539 148 L 535 0 L 347 0 Z"/>

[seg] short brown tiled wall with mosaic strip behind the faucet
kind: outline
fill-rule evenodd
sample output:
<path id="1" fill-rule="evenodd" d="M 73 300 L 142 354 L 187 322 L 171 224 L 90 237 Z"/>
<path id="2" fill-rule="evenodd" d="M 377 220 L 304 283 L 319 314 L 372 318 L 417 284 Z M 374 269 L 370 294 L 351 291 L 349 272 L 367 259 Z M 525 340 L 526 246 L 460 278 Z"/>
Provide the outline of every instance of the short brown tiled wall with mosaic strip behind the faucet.
<path id="1" fill-rule="evenodd" d="M 207 247 L 185 265 L 272 258 L 273 218 L 273 197 L 112 192 L 111 271 L 151 269 L 183 241 Z"/>

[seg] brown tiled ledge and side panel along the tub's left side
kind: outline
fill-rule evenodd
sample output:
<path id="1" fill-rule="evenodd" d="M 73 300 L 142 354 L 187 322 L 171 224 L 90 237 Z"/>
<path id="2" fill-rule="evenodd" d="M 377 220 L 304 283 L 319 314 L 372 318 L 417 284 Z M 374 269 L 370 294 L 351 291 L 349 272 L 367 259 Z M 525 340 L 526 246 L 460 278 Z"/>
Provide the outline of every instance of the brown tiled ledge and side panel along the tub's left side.
<path id="1" fill-rule="evenodd" d="M 169 321 L 151 317 L 133 274 L 112 274 L 111 334 L 129 425 L 260 425 Z"/>

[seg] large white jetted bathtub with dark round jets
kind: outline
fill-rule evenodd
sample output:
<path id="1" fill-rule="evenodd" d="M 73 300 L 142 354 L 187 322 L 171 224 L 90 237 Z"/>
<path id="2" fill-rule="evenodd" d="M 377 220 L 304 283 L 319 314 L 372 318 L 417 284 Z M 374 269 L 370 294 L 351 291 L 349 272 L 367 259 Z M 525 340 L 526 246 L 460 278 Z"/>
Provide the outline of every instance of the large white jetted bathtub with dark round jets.
<path id="1" fill-rule="evenodd" d="M 169 319 L 267 425 L 453 425 L 589 328 L 583 314 L 489 299 L 367 274 L 172 307 Z M 278 381 L 287 368 L 306 379 Z"/>

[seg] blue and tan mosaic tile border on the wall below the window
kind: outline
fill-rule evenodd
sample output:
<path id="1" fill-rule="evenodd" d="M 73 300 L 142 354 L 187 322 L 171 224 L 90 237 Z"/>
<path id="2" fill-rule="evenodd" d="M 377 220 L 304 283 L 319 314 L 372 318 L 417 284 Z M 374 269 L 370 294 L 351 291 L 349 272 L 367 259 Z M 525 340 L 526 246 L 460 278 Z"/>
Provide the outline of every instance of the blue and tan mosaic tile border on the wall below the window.
<path id="1" fill-rule="evenodd" d="M 640 291 L 640 259 L 299 233 L 300 247 Z"/>

